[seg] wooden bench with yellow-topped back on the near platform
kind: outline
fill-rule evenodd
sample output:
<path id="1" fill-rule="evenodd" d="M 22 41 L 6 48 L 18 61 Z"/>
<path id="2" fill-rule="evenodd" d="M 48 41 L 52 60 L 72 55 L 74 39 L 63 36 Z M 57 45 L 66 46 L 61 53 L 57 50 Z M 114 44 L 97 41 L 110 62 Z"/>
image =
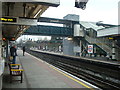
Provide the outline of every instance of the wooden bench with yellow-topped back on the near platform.
<path id="1" fill-rule="evenodd" d="M 14 80 L 14 81 L 20 81 L 22 83 L 23 81 L 23 69 L 20 69 L 20 64 L 8 64 L 9 65 L 9 71 L 10 71 L 10 83 L 13 81 L 13 77 L 20 77 L 20 80 Z"/>

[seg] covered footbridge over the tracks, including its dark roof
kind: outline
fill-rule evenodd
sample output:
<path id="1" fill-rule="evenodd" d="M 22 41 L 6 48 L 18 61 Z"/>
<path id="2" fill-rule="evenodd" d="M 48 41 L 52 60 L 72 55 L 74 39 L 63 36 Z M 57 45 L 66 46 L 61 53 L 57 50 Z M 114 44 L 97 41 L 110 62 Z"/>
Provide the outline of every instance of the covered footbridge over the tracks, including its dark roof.
<path id="1" fill-rule="evenodd" d="M 73 36 L 74 24 L 79 21 L 40 17 L 37 22 L 63 24 L 62 26 L 36 25 L 29 27 L 23 35 Z"/>

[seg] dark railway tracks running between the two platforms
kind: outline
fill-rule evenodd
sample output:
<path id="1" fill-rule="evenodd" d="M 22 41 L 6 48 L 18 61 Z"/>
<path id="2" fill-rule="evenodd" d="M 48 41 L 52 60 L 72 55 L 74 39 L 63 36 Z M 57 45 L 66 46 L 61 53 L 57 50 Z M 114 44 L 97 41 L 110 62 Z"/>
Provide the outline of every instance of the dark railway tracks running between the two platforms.
<path id="1" fill-rule="evenodd" d="M 66 57 L 62 55 L 28 51 L 28 53 L 42 60 L 82 78 L 101 89 L 120 90 L 120 65 L 106 64 L 94 61 L 86 61 L 80 58 Z"/>

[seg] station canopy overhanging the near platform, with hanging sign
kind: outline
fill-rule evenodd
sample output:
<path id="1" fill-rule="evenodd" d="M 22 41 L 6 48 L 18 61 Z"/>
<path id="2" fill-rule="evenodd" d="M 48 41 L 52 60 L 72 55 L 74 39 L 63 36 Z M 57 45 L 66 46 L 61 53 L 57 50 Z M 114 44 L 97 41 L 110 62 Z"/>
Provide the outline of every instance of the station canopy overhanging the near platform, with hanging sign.
<path id="1" fill-rule="evenodd" d="M 30 25 L 34 25 L 50 6 L 57 7 L 60 0 L 1 0 L 3 37 L 17 39 Z"/>

